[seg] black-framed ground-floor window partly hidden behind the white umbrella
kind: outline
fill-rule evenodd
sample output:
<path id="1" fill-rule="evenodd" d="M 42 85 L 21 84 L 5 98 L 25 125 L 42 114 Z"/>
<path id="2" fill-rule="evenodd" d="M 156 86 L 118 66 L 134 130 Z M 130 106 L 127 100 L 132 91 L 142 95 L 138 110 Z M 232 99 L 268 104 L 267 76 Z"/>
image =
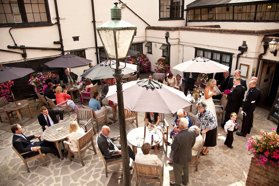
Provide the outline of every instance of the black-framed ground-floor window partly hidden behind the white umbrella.
<path id="1" fill-rule="evenodd" d="M 198 57 L 202 55 L 204 58 L 208 58 L 212 61 L 221 63 L 223 65 L 226 65 L 229 68 L 229 71 L 232 67 L 232 54 L 226 53 L 226 52 L 221 52 L 221 51 L 210 51 L 207 49 L 200 49 L 196 48 L 195 50 L 195 56 Z"/>

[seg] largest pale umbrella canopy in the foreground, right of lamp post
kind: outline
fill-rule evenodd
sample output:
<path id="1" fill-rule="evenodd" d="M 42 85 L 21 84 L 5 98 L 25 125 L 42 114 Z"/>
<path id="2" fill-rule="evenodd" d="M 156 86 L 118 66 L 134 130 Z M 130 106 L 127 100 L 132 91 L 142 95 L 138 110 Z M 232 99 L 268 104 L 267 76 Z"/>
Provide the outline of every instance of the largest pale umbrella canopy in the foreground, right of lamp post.
<path id="1" fill-rule="evenodd" d="M 117 103 L 116 85 L 106 96 Z M 173 114 L 192 105 L 183 92 L 152 79 L 130 81 L 123 84 L 124 107 L 135 112 L 159 112 Z"/>

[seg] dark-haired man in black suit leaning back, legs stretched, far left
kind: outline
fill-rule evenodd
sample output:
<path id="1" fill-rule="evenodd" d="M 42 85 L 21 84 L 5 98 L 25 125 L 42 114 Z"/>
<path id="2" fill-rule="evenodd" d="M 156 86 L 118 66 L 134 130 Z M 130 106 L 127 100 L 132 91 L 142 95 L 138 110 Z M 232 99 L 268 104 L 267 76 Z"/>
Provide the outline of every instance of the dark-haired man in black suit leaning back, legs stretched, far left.
<path id="1" fill-rule="evenodd" d="M 32 157 L 34 155 L 39 154 L 38 146 L 41 147 L 42 153 L 52 153 L 54 155 L 57 155 L 59 157 L 58 150 L 54 146 L 53 142 L 47 142 L 45 140 L 39 141 L 39 142 L 31 142 L 34 137 L 39 137 L 40 135 L 31 135 L 31 136 L 25 136 L 22 133 L 22 127 L 19 124 L 13 124 L 11 127 L 12 133 L 14 135 L 12 136 L 12 146 L 14 146 L 20 153 L 29 152 L 27 154 L 22 155 L 25 157 Z"/>

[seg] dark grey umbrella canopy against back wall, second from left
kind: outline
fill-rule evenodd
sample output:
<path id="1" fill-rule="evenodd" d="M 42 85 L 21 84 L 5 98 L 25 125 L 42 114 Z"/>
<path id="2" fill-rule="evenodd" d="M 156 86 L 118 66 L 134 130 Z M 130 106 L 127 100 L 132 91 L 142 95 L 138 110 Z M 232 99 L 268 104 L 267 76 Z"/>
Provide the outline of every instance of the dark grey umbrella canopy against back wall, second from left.
<path id="1" fill-rule="evenodd" d="M 49 67 L 71 68 L 88 65 L 90 62 L 92 62 L 92 60 L 67 53 L 66 55 L 62 55 L 54 60 L 45 63 L 45 65 Z"/>

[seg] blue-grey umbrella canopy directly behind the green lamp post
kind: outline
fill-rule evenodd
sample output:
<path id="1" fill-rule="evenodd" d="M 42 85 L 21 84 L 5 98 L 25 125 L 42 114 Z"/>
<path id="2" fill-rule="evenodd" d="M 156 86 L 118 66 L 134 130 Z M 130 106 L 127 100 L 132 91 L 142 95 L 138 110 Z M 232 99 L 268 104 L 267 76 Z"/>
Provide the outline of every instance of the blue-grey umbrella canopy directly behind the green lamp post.
<path id="1" fill-rule="evenodd" d="M 91 67 L 90 69 L 87 69 L 83 74 L 81 74 L 82 77 L 90 78 L 90 79 L 104 79 L 104 78 L 114 78 L 112 74 L 114 74 L 114 69 L 110 68 L 110 62 L 112 68 L 116 68 L 116 61 L 115 60 L 105 60 L 98 65 L 95 65 L 94 67 Z M 125 62 L 119 62 L 120 67 L 125 67 Z M 126 67 L 122 69 L 123 74 L 129 74 L 132 72 L 137 71 L 137 65 L 133 65 L 130 63 L 126 63 Z"/>

